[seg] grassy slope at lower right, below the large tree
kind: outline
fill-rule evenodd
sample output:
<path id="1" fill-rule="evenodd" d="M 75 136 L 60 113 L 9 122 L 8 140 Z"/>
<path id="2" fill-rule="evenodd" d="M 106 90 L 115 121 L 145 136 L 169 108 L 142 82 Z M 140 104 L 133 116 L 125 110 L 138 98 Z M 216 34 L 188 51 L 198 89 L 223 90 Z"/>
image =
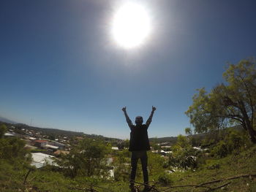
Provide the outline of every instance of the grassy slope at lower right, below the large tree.
<path id="1" fill-rule="evenodd" d="M 256 147 L 239 154 L 229 155 L 226 158 L 208 160 L 206 165 L 196 172 L 179 172 L 172 174 L 172 176 L 174 185 L 199 185 L 211 180 L 219 180 L 240 174 L 256 174 Z M 230 185 L 225 187 L 227 191 L 256 191 L 255 178 L 239 178 L 230 180 L 230 182 Z M 211 187 L 224 183 L 227 183 L 227 181 L 216 183 Z M 176 190 L 181 190 L 181 188 L 176 188 Z M 193 191 L 203 190 L 205 189 L 193 188 Z M 192 188 L 187 189 L 187 191 L 192 191 Z M 223 191 L 223 189 L 216 191 Z"/>

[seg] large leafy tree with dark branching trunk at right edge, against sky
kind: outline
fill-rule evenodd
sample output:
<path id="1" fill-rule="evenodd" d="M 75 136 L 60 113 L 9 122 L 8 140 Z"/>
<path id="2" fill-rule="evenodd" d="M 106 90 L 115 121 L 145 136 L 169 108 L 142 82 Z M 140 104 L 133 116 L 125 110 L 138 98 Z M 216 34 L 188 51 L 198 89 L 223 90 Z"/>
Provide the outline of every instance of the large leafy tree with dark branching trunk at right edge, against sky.
<path id="1" fill-rule="evenodd" d="M 241 125 L 250 140 L 256 143 L 256 61 L 242 60 L 228 64 L 223 74 L 224 83 L 215 86 L 210 93 L 205 88 L 193 96 L 193 104 L 185 112 L 195 132 L 219 130 L 227 125 Z"/>

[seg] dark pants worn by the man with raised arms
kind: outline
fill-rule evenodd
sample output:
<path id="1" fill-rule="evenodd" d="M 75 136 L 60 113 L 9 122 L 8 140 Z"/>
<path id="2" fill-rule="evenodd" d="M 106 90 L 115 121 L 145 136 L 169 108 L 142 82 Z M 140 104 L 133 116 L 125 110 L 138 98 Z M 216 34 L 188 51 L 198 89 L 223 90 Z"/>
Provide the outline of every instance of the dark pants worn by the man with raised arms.
<path id="1" fill-rule="evenodd" d="M 135 176 L 136 176 L 136 169 L 138 164 L 138 159 L 140 158 L 142 171 L 143 171 L 143 180 L 145 184 L 148 184 L 148 155 L 146 150 L 140 150 L 140 151 L 132 151 L 132 158 L 131 158 L 131 164 L 132 164 L 132 171 L 131 171 L 131 177 L 130 177 L 130 185 L 134 185 L 135 182 Z"/>

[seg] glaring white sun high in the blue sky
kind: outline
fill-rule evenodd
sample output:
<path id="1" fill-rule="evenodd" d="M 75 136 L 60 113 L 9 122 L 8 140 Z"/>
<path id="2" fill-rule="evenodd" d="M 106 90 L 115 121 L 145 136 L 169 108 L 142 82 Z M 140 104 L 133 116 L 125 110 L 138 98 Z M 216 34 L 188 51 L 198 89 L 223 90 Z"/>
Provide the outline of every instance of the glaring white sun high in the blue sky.
<path id="1" fill-rule="evenodd" d="M 148 13 L 140 4 L 124 4 L 114 15 L 112 34 L 121 47 L 138 47 L 145 42 L 150 32 Z"/>

